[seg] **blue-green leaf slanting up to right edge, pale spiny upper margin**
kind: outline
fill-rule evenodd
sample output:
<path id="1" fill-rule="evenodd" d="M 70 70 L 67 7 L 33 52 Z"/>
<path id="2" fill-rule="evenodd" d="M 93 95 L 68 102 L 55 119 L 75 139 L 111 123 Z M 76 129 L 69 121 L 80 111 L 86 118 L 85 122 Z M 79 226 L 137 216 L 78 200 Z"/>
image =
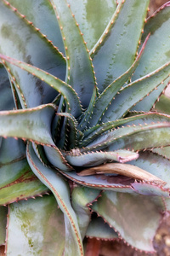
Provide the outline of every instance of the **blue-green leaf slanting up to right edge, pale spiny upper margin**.
<path id="1" fill-rule="evenodd" d="M 135 106 L 144 96 L 150 94 L 152 90 L 155 90 L 165 79 L 170 80 L 169 71 L 170 62 L 167 62 L 155 72 L 128 84 L 116 95 L 101 121 L 106 122 L 122 118 L 130 108 Z"/>

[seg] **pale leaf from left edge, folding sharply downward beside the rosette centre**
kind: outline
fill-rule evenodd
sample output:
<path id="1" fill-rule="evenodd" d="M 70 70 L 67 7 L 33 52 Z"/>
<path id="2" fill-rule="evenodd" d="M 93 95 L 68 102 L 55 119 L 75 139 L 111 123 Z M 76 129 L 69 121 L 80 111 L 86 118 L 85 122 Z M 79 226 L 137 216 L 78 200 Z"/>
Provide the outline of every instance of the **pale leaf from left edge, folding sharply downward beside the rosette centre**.
<path id="1" fill-rule="evenodd" d="M 64 156 L 51 137 L 51 122 L 54 117 L 53 104 L 0 113 L 0 136 L 20 137 L 44 145 L 48 160 L 61 170 L 69 171 Z M 54 158 L 52 157 L 54 156 Z M 57 160 L 56 160 L 57 158 Z"/>

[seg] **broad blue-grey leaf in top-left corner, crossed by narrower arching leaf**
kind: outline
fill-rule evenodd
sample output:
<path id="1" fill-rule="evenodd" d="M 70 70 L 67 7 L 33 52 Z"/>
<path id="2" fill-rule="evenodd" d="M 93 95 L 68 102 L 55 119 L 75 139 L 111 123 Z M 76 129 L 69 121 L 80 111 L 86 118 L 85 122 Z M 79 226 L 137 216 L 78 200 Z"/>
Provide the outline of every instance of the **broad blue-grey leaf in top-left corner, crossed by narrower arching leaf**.
<path id="1" fill-rule="evenodd" d="M 64 57 L 32 26 L 31 21 L 20 15 L 6 0 L 0 2 L 0 17 L 1 54 L 26 61 L 55 74 L 59 79 L 65 79 Z M 57 92 L 42 80 L 18 67 L 7 64 L 7 68 L 23 108 L 32 108 L 54 100 Z"/>

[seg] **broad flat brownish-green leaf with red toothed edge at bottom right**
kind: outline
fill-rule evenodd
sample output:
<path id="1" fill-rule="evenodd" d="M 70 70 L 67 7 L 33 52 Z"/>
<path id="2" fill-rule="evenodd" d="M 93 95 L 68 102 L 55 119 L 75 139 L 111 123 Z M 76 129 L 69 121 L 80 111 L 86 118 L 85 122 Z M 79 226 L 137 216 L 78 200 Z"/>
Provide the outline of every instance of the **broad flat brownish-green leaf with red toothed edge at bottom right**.
<path id="1" fill-rule="evenodd" d="M 161 197 L 105 191 L 92 209 L 128 244 L 147 253 L 154 252 L 152 240 L 165 210 Z"/>

